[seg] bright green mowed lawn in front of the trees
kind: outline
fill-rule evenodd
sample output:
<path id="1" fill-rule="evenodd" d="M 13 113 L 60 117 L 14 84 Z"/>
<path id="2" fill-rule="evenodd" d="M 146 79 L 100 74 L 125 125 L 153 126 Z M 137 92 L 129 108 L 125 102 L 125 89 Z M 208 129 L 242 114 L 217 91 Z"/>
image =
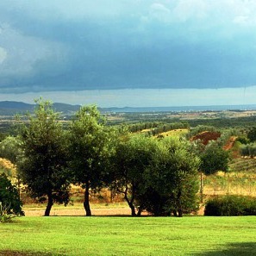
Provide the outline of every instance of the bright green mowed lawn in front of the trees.
<path id="1" fill-rule="evenodd" d="M 256 216 L 22 217 L 0 232 L 0 255 L 256 255 Z"/>

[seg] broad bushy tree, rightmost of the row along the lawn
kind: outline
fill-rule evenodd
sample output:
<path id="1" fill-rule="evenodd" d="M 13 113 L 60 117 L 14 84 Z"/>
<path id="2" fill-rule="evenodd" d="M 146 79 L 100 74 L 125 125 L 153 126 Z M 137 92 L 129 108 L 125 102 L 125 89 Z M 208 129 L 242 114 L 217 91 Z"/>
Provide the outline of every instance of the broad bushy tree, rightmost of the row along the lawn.
<path id="1" fill-rule="evenodd" d="M 190 142 L 179 138 L 158 140 L 152 165 L 147 170 L 148 187 L 154 197 L 147 197 L 158 215 L 182 216 L 197 209 L 198 168 L 200 159 L 190 151 Z"/>

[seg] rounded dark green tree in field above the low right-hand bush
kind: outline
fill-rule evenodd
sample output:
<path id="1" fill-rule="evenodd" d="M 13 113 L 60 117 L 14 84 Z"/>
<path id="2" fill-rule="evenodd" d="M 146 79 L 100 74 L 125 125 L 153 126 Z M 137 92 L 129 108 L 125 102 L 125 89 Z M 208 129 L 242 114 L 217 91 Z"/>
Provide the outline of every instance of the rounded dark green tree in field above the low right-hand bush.
<path id="1" fill-rule="evenodd" d="M 209 143 L 200 154 L 200 158 L 202 161 L 200 169 L 204 174 L 214 174 L 218 171 L 228 172 L 229 153 L 217 143 Z"/>

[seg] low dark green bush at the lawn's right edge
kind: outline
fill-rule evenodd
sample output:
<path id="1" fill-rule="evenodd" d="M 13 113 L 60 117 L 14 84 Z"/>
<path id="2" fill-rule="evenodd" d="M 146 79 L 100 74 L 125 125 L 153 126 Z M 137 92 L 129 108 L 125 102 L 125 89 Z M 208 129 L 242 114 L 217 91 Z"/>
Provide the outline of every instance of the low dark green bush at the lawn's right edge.
<path id="1" fill-rule="evenodd" d="M 225 196 L 210 199 L 205 206 L 204 215 L 241 216 L 256 215 L 256 200 L 252 197 Z"/>

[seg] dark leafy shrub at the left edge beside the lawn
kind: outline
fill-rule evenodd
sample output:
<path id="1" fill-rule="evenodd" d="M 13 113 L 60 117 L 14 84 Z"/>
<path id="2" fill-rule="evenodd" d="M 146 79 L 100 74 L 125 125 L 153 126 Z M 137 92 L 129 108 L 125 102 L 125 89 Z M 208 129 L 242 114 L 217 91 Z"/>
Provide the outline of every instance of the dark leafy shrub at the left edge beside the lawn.
<path id="1" fill-rule="evenodd" d="M 4 173 L 0 174 L 0 203 L 0 219 L 8 220 L 11 215 L 23 215 L 19 191 Z"/>

